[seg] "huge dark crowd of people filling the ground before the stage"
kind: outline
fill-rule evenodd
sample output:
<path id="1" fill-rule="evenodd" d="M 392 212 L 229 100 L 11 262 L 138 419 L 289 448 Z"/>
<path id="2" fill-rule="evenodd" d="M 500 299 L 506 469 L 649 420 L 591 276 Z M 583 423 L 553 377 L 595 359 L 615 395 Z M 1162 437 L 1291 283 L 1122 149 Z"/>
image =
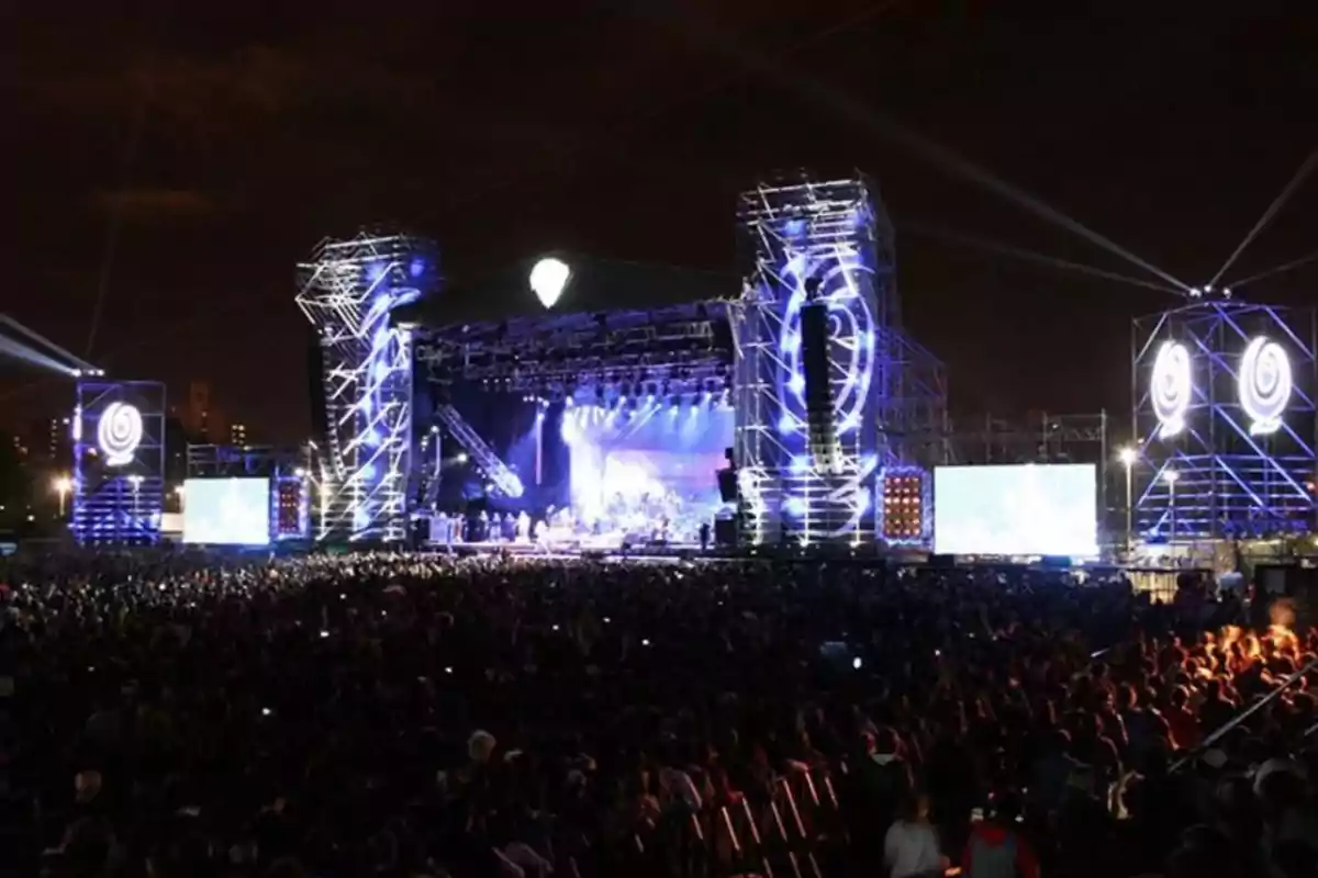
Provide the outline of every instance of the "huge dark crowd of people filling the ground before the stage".
<path id="1" fill-rule="evenodd" d="M 1318 874 L 1318 636 L 1062 579 L 13 558 L 0 870 Z"/>

